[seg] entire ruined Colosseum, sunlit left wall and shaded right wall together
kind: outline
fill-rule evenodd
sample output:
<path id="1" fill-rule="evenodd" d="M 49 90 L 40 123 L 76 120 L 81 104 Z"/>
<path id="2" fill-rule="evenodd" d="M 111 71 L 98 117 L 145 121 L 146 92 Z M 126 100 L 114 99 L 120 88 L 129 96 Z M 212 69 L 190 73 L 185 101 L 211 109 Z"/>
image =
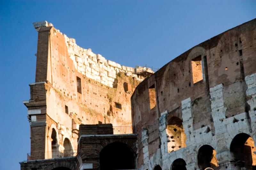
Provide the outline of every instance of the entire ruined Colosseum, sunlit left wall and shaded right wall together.
<path id="1" fill-rule="evenodd" d="M 256 19 L 159 70 L 38 31 L 21 170 L 255 170 Z"/>

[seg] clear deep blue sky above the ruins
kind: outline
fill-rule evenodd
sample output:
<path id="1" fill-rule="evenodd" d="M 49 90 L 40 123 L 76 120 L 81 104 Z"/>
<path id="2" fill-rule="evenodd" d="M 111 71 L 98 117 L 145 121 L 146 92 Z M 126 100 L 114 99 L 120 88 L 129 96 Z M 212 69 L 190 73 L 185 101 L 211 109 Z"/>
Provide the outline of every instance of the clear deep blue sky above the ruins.
<path id="1" fill-rule="evenodd" d="M 37 32 L 47 20 L 83 48 L 121 65 L 162 67 L 189 48 L 256 17 L 256 1 L 0 0 L 0 170 L 30 152 L 27 108 Z"/>

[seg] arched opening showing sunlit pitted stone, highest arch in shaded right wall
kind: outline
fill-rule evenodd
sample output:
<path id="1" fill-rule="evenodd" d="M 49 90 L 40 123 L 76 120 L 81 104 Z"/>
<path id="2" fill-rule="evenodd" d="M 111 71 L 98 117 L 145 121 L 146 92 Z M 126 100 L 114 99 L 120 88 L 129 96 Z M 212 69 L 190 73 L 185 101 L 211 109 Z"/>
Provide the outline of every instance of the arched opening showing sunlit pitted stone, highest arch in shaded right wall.
<path id="1" fill-rule="evenodd" d="M 167 123 L 166 133 L 169 136 L 168 152 L 186 147 L 186 134 L 182 126 L 182 120 L 173 116 Z"/>

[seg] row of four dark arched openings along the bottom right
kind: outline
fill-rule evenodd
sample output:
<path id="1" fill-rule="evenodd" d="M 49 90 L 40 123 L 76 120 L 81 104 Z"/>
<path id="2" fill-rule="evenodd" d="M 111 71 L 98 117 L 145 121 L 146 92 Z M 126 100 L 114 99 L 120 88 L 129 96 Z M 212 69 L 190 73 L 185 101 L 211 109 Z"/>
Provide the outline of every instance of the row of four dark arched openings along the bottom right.
<path id="1" fill-rule="evenodd" d="M 231 160 L 231 162 L 236 162 L 236 166 L 239 166 L 241 169 L 256 170 L 256 148 L 251 136 L 245 133 L 236 135 L 230 144 L 230 152 L 234 157 L 234 160 Z M 197 163 L 199 169 L 220 169 L 215 149 L 207 144 L 199 148 Z M 162 170 L 162 168 L 156 165 L 154 170 Z M 187 170 L 185 160 L 181 158 L 174 160 L 171 170 Z"/>

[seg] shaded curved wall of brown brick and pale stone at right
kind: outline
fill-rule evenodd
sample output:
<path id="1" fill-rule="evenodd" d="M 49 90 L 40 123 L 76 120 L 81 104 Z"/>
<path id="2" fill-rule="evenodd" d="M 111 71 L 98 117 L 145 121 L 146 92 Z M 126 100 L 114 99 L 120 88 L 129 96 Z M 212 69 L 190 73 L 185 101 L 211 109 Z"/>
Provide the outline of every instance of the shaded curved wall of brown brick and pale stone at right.
<path id="1" fill-rule="evenodd" d="M 160 165 L 164 170 L 175 169 L 173 162 L 183 159 L 188 170 L 205 166 L 252 169 L 254 163 L 249 167 L 244 165 L 246 159 L 237 160 L 230 145 L 236 135 L 247 134 L 239 147 L 249 148 L 252 162 L 255 160 L 255 64 L 256 19 L 253 19 L 189 49 L 141 82 L 131 98 L 132 123 L 134 132 L 139 134 L 141 153 L 137 167 L 152 170 Z M 152 85 L 156 90 L 154 108 L 149 96 Z M 176 126 L 184 128 L 186 136 L 185 144 L 179 148 L 176 145 L 180 146 L 180 140 L 170 140 L 172 117 L 181 120 L 182 126 L 179 123 Z M 149 127 L 153 130 L 145 133 Z M 249 147 L 245 146 L 248 137 L 254 143 Z M 156 141 L 160 144 L 156 145 Z M 207 153 L 200 148 L 207 148 Z M 201 160 L 204 157 L 209 162 Z"/>

